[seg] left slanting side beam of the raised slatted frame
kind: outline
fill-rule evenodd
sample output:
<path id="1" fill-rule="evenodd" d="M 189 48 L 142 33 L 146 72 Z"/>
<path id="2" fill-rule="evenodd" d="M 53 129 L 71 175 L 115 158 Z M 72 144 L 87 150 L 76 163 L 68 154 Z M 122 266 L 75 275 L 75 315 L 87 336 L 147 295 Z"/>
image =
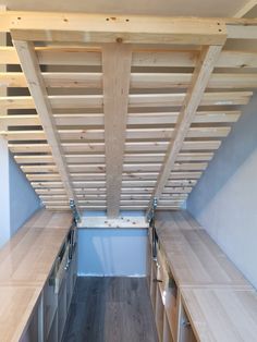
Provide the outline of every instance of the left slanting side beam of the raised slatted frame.
<path id="1" fill-rule="evenodd" d="M 13 41 L 13 44 L 16 48 L 23 72 L 27 80 L 29 91 L 35 101 L 35 107 L 45 130 L 48 143 L 51 148 L 52 157 L 61 175 L 68 198 L 76 201 L 75 194 L 71 186 L 69 171 L 63 160 L 63 151 L 60 144 L 60 138 L 54 127 L 51 106 L 48 100 L 47 90 L 40 74 L 40 69 L 33 44 L 17 40 Z"/>

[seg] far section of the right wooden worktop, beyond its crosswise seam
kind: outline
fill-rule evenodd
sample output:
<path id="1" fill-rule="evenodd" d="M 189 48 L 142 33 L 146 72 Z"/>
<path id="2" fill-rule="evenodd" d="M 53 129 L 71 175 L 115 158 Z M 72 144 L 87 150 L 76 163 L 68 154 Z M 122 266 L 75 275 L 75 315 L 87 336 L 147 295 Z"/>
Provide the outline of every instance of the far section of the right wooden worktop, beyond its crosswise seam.
<path id="1" fill-rule="evenodd" d="M 234 264 L 186 211 L 158 212 L 156 230 L 179 286 L 252 289 Z"/>

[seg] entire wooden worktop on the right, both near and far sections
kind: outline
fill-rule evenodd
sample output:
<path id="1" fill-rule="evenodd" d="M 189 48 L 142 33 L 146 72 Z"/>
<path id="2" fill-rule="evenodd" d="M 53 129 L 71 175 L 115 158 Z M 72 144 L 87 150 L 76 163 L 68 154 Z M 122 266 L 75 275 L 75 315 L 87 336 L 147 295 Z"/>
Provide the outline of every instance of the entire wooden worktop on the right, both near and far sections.
<path id="1" fill-rule="evenodd" d="M 166 282 L 168 265 L 172 280 L 173 302 L 163 305 L 176 310 L 175 341 L 256 341 L 257 292 L 208 233 L 187 211 L 159 211 L 155 225 L 158 279 Z"/>

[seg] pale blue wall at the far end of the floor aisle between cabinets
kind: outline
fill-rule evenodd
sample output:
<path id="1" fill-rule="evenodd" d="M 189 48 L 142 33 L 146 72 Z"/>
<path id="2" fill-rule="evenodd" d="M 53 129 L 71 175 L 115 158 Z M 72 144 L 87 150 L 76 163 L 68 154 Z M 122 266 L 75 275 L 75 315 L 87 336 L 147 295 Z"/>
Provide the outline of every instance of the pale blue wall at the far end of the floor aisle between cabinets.
<path id="1" fill-rule="evenodd" d="M 145 229 L 78 230 L 78 276 L 146 274 Z"/>

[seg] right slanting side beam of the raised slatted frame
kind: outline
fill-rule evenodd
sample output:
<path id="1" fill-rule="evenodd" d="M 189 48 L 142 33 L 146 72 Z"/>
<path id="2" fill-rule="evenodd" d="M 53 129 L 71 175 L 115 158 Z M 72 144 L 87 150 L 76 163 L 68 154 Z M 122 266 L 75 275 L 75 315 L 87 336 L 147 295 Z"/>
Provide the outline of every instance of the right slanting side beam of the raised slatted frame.
<path id="1" fill-rule="evenodd" d="M 198 64 L 195 68 L 192 86 L 185 97 L 181 109 L 180 118 L 175 126 L 174 134 L 168 147 L 164 162 L 160 170 L 157 185 L 152 192 L 148 210 L 151 208 L 154 198 L 159 199 L 171 171 L 175 168 L 175 162 L 180 150 L 182 149 L 184 138 L 188 134 L 189 126 L 195 118 L 197 108 L 201 102 L 205 88 L 209 82 L 209 77 L 215 68 L 216 61 L 220 54 L 222 47 L 210 46 L 205 48 L 200 54 Z"/>

